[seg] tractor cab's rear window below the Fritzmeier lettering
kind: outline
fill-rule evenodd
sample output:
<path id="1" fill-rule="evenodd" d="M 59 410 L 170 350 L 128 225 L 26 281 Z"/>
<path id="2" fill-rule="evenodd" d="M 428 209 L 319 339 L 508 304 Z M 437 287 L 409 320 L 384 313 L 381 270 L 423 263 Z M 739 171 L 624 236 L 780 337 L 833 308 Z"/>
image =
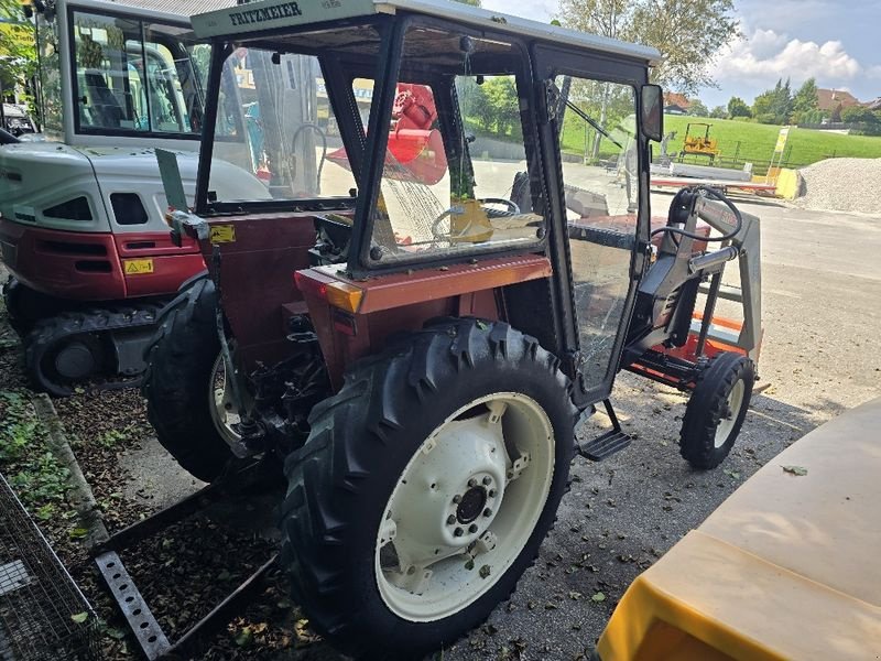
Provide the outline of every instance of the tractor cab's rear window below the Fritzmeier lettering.
<path id="1" fill-rule="evenodd" d="M 325 46 L 324 66 L 315 55 L 303 53 L 319 51 L 326 42 L 333 47 Z M 360 131 L 361 118 L 350 104 L 350 90 L 327 80 L 325 67 L 342 69 L 356 50 L 363 67 L 378 48 L 377 33 L 365 26 L 232 48 L 224 63 L 224 79 L 233 84 L 217 98 L 208 201 L 352 198 L 356 181 L 340 123 Z M 349 110 L 339 117 L 338 108 Z M 237 117 L 243 118 L 240 128 Z M 225 185 L 226 163 L 254 174 L 263 183 L 263 195 Z"/>

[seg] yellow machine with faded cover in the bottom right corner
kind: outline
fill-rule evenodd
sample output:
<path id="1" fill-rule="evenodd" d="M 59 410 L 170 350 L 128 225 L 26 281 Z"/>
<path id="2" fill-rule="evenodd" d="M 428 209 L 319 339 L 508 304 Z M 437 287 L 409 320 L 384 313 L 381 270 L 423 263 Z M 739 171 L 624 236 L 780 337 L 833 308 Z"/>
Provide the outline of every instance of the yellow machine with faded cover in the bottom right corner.
<path id="1" fill-rule="evenodd" d="M 601 661 L 879 659 L 881 398 L 777 455 L 640 575 Z"/>

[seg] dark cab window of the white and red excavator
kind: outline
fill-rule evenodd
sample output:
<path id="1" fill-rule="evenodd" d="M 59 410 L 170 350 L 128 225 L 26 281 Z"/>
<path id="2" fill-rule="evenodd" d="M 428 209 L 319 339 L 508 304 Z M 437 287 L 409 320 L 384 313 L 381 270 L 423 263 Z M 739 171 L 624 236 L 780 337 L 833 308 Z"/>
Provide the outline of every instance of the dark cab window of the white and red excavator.
<path id="1" fill-rule="evenodd" d="M 74 12 L 76 123 L 90 133 L 197 138 L 203 89 L 188 30 Z M 207 59 L 202 55 L 203 59 Z"/>

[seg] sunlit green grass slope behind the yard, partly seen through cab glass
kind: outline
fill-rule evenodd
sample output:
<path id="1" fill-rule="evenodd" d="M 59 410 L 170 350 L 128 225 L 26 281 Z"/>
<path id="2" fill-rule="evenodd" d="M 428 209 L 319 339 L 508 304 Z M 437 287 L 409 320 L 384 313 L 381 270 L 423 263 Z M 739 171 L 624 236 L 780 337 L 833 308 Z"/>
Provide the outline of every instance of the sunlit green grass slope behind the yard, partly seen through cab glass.
<path id="1" fill-rule="evenodd" d="M 698 117 L 664 116 L 664 131 L 676 131 L 676 139 L 667 147 L 670 152 L 678 152 L 685 138 L 688 122 L 706 122 L 713 124 L 710 138 L 719 141 L 724 159 L 740 161 L 766 162 L 771 159 L 776 144 L 777 126 L 760 124 L 730 119 L 706 119 Z M 566 121 L 563 132 L 563 148 L 569 153 L 584 153 L 584 122 Z M 602 150 L 606 152 L 607 150 Z M 659 153 L 655 147 L 655 154 Z M 829 131 L 811 129 L 790 130 L 785 158 L 793 165 L 809 165 L 833 156 L 855 156 L 863 159 L 881 159 L 881 137 L 842 136 Z M 689 156 L 690 159 L 690 156 Z M 696 162 L 706 163 L 699 158 Z"/>

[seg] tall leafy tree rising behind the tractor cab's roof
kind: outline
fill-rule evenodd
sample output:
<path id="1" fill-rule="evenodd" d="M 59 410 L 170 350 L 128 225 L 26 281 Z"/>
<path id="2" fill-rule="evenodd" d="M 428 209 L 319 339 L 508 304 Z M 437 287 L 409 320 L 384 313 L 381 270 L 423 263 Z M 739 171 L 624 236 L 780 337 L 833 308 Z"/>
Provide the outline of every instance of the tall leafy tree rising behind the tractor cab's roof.
<path id="1" fill-rule="evenodd" d="M 714 56 L 739 36 L 733 0 L 561 0 L 567 28 L 648 44 L 661 51 L 652 82 L 695 93 L 715 86 Z"/>

